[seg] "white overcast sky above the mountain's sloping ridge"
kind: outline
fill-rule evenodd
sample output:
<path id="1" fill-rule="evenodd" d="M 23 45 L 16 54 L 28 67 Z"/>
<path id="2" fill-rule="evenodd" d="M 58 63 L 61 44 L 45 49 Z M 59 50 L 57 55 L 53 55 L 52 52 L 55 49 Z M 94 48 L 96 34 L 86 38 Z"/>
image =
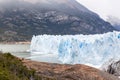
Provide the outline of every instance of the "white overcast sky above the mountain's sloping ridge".
<path id="1" fill-rule="evenodd" d="M 112 15 L 120 18 L 120 0 L 77 0 L 88 9 L 98 13 L 100 17 L 106 19 Z"/>

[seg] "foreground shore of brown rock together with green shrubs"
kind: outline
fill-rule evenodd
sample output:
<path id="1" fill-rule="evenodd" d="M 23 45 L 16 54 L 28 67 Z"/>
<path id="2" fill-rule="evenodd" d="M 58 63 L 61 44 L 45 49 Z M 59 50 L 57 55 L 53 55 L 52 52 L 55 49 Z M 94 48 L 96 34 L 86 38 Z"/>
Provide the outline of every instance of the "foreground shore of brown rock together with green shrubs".
<path id="1" fill-rule="evenodd" d="M 119 67 L 119 65 L 117 65 Z M 112 69 L 112 66 L 110 70 Z M 117 68 L 116 68 L 117 69 Z M 119 69 L 117 69 L 119 71 Z M 120 80 L 83 64 L 36 62 L 0 53 L 0 80 Z"/>

